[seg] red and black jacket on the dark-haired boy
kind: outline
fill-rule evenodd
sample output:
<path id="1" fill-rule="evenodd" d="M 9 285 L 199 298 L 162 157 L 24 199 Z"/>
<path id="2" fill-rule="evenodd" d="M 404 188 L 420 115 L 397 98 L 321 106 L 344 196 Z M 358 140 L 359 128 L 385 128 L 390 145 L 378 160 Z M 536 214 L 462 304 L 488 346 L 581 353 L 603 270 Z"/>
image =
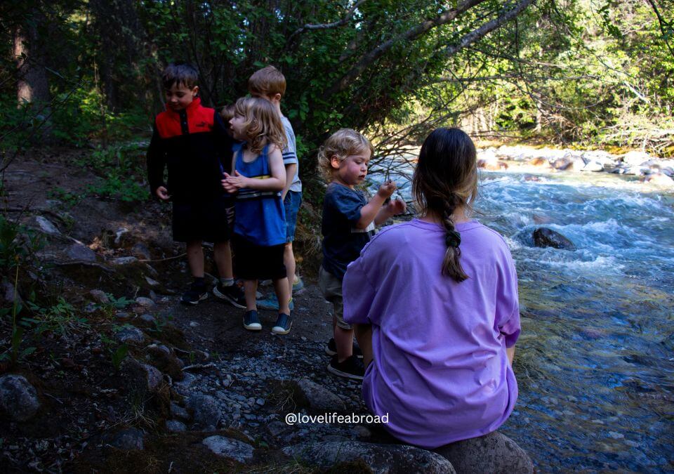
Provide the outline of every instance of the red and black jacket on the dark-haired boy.
<path id="1" fill-rule="evenodd" d="M 166 187 L 173 202 L 204 202 L 227 194 L 220 180 L 223 172 L 230 173 L 233 144 L 218 112 L 201 107 L 199 98 L 178 112 L 167 106 L 154 119 L 147 150 L 152 196 L 159 186 Z"/>

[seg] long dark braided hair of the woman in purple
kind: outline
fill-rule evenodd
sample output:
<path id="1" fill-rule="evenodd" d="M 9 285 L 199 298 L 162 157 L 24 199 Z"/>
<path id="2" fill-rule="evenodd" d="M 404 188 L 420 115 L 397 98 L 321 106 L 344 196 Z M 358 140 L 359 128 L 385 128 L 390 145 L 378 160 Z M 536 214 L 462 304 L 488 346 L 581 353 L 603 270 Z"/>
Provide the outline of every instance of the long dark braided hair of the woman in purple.
<path id="1" fill-rule="evenodd" d="M 477 196 L 477 163 L 473 140 L 460 129 L 437 129 L 423 143 L 412 179 L 412 192 L 423 213 L 440 217 L 447 251 L 442 275 L 463 282 L 461 234 L 454 228 L 456 208 L 470 206 Z"/>

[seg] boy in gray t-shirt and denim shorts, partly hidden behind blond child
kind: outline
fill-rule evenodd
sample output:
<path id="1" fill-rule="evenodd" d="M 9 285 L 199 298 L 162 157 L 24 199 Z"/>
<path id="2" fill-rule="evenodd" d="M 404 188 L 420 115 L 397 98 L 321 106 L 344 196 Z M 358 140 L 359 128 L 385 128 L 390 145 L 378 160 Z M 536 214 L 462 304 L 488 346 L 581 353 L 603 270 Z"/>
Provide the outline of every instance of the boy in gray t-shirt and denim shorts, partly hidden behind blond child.
<path id="1" fill-rule="evenodd" d="M 286 130 L 288 146 L 283 150 L 283 164 L 286 166 L 286 186 L 282 197 L 286 212 L 286 246 L 283 254 L 283 263 L 286 265 L 288 283 L 290 287 L 290 309 L 293 309 L 293 282 L 301 280 L 295 276 L 295 256 L 293 254 L 293 240 L 295 239 L 295 227 L 297 225 L 297 213 L 302 204 L 302 182 L 299 176 L 299 162 L 295 147 L 295 132 L 290 121 L 281 112 L 281 99 L 286 93 L 286 78 L 274 66 L 263 67 L 257 70 L 248 79 L 248 90 L 253 97 L 267 99 L 276 107 L 279 117 Z M 265 309 L 278 309 L 279 302 L 275 296 L 270 296 L 258 301 L 258 306 Z"/>

